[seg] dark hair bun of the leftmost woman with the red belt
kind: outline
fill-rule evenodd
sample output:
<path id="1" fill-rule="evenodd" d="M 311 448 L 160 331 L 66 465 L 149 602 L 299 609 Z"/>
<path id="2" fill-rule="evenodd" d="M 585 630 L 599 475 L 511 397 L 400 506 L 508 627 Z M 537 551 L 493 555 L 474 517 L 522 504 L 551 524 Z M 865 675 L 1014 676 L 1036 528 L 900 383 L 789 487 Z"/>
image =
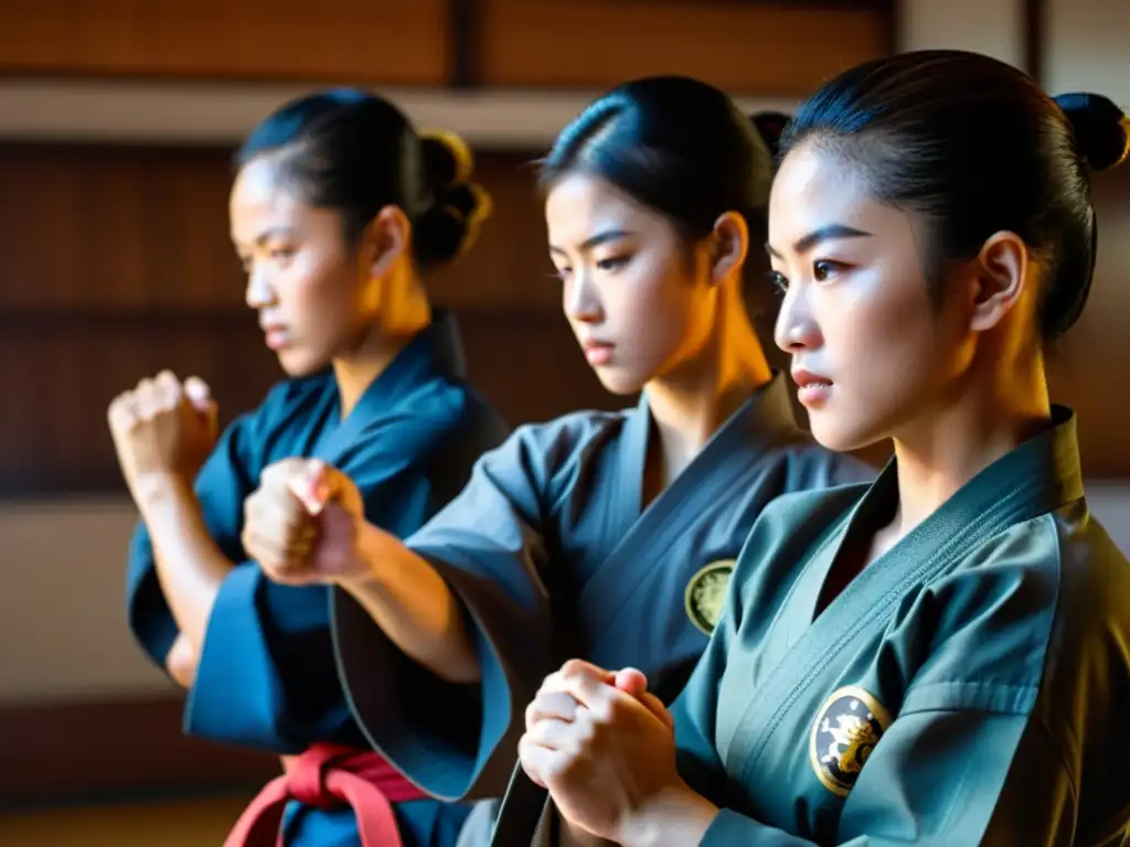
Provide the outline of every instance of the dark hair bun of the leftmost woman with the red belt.
<path id="1" fill-rule="evenodd" d="M 416 222 L 416 254 L 425 263 L 446 262 L 475 243 L 490 215 L 490 195 L 470 182 L 475 156 L 454 132 L 421 132 L 420 152 L 432 206 Z"/>

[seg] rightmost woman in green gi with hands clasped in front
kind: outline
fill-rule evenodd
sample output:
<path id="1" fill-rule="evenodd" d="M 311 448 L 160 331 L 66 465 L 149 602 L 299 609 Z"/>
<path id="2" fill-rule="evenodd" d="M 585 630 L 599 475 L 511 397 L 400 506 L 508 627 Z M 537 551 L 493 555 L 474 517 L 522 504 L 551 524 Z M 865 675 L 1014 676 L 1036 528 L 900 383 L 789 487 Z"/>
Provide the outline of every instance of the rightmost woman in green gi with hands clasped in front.
<path id="1" fill-rule="evenodd" d="M 955 51 L 800 108 L 776 341 L 822 444 L 895 459 L 770 505 L 670 715 L 631 669 L 547 679 L 521 759 L 563 842 L 1127 842 L 1130 566 L 1045 377 L 1094 270 L 1088 174 L 1127 147 L 1110 101 Z"/>

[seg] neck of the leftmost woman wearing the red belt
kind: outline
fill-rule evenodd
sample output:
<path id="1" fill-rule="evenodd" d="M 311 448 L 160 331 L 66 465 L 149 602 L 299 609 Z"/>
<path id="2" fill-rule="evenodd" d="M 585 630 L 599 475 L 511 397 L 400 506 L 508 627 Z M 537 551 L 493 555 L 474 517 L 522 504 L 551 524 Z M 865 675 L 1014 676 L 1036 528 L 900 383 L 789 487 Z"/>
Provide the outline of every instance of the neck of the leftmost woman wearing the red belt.
<path id="1" fill-rule="evenodd" d="M 432 307 L 424 288 L 407 272 L 400 279 L 390 280 L 376 313 L 377 318 L 365 328 L 349 350 L 333 359 L 342 420 L 349 417 L 368 386 L 397 355 L 432 323 Z"/>

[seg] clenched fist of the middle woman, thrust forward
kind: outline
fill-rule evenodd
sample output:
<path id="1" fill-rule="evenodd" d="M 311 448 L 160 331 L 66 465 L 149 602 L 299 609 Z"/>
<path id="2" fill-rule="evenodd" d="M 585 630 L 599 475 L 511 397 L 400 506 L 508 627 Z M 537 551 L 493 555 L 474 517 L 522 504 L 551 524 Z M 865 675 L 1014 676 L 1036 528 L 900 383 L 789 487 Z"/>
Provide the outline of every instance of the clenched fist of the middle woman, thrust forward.
<path id="1" fill-rule="evenodd" d="M 366 568 L 357 555 L 365 523 L 360 492 L 320 460 L 270 465 L 244 501 L 243 515 L 243 548 L 277 583 L 332 583 Z"/>

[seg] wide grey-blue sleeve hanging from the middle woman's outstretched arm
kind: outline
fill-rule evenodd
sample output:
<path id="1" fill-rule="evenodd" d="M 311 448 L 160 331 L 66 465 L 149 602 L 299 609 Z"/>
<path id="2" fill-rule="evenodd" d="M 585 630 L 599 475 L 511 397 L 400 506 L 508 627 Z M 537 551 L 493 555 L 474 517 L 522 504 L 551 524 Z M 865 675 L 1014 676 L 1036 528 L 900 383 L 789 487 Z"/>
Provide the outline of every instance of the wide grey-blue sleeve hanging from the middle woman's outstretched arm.
<path id="1" fill-rule="evenodd" d="M 354 715 L 382 756 L 438 798 L 502 795 L 516 758 L 515 717 L 551 670 L 542 579 L 554 548 L 555 469 L 571 443 L 556 424 L 519 428 L 408 539 L 462 604 L 481 670 L 477 686 L 440 680 L 336 592 L 339 672 Z"/>

